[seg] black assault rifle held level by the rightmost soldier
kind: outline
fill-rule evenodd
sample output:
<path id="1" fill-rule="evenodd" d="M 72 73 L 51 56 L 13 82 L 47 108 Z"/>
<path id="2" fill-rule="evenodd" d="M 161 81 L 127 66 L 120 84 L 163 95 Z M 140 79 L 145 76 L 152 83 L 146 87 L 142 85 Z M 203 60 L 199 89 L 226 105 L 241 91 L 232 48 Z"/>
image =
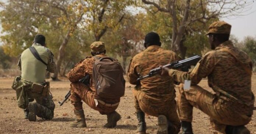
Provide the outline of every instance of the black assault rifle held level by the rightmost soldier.
<path id="1" fill-rule="evenodd" d="M 196 63 L 201 59 L 200 56 L 196 55 L 181 61 L 175 61 L 172 62 L 171 64 L 167 64 L 164 65 L 164 68 L 171 68 L 171 69 L 179 69 L 179 68 L 184 68 L 184 67 L 188 67 L 191 65 L 196 65 Z M 157 73 L 159 73 L 161 71 L 161 68 L 155 68 L 149 71 L 149 74 L 146 76 L 141 76 L 137 79 L 137 82 L 139 82 L 140 80 L 146 78 L 146 77 L 152 77 L 153 75 L 156 75 Z"/>

